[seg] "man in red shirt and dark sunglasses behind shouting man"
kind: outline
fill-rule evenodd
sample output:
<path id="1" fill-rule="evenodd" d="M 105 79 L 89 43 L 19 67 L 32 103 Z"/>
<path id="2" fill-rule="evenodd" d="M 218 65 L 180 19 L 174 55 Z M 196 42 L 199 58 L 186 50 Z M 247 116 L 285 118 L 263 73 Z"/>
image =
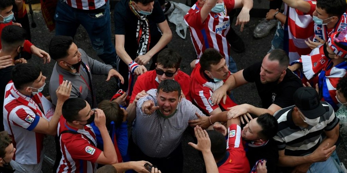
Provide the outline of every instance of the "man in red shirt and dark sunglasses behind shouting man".
<path id="1" fill-rule="evenodd" d="M 181 60 L 181 55 L 170 48 L 166 48 L 158 54 L 155 70 L 138 76 L 134 84 L 130 104 L 126 109 L 129 121 L 135 118 L 137 100 L 148 95 L 146 91 L 158 88 L 159 83 L 163 80 L 171 79 L 177 81 L 181 86 L 183 97 L 192 101 L 190 94 L 191 78 L 186 73 L 180 71 Z"/>

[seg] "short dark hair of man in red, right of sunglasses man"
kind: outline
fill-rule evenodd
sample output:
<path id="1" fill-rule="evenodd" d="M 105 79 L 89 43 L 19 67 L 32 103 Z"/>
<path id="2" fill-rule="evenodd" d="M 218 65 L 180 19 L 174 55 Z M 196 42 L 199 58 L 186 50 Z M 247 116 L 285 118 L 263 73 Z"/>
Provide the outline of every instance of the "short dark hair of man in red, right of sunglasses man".
<path id="1" fill-rule="evenodd" d="M 216 49 L 214 48 L 206 49 L 200 58 L 201 70 L 210 71 L 211 65 L 218 64 L 222 58 L 224 57 Z"/>

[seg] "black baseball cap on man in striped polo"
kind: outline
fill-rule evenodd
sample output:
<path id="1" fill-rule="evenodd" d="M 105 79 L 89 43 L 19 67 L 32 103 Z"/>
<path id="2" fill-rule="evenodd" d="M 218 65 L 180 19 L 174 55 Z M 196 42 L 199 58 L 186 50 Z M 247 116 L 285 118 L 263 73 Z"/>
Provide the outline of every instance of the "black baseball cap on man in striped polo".
<path id="1" fill-rule="evenodd" d="M 325 113 L 317 91 L 309 86 L 301 87 L 294 93 L 294 104 L 308 119 L 315 119 Z"/>

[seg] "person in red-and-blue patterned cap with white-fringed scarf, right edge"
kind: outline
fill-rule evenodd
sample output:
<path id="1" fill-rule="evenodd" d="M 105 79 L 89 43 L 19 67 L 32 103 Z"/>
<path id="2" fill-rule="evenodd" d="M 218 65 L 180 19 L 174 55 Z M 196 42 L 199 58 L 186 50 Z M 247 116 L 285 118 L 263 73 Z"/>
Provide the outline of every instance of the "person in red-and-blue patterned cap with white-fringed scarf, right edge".
<path id="1" fill-rule="evenodd" d="M 319 88 L 319 97 L 328 102 L 335 111 L 339 108 L 336 86 L 347 70 L 347 30 L 335 32 L 328 41 L 313 49 L 310 55 L 303 55 L 295 61 L 290 70 L 302 68 L 302 82 L 309 82 Z"/>

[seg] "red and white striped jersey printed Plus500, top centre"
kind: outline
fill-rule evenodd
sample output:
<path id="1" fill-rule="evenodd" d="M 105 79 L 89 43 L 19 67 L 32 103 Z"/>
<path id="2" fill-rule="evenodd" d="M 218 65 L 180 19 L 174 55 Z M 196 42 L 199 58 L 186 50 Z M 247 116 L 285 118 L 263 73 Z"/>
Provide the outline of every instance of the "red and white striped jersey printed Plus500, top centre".
<path id="1" fill-rule="evenodd" d="M 210 12 L 205 22 L 201 22 L 200 9 L 196 2 L 188 13 L 184 16 L 186 24 L 191 32 L 192 42 L 199 59 L 207 48 L 219 50 L 219 53 L 229 62 L 230 44 L 226 35 L 230 29 L 230 20 L 227 14 L 235 5 L 234 0 L 224 0 L 225 8 L 223 12 Z"/>

